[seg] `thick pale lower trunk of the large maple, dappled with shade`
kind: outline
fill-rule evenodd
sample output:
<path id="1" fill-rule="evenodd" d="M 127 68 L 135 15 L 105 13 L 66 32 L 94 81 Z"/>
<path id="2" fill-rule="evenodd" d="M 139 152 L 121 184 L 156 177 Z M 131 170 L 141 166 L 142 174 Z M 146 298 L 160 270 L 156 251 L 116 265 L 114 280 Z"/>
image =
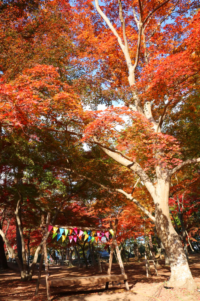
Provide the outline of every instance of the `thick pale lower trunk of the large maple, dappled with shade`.
<path id="1" fill-rule="evenodd" d="M 173 228 L 169 214 L 169 177 L 161 173 L 157 175 L 155 203 L 155 225 L 158 235 L 164 245 L 171 266 L 169 287 L 186 288 L 194 290 L 196 284 L 193 280 L 182 242 Z"/>

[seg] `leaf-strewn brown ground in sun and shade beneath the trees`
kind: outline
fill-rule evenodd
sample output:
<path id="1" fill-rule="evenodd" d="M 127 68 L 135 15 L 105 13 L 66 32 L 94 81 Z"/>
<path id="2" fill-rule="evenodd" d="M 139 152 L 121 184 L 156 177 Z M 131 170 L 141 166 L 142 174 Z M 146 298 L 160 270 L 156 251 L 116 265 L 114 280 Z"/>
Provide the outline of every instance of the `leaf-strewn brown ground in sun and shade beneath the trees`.
<path id="1" fill-rule="evenodd" d="M 190 269 L 194 280 L 200 287 L 200 254 L 190 255 Z M 98 266 L 86 268 L 50 265 L 50 277 L 74 277 L 106 274 L 108 264 L 104 264 L 105 272 L 100 273 Z M 170 276 L 170 267 L 164 265 L 164 260 L 159 261 L 158 274 L 156 276 L 154 266 L 151 265 L 151 277 L 146 277 L 145 262 L 136 262 L 130 259 L 130 264 L 124 264 L 127 274 L 130 292 L 124 287 L 124 282 L 118 286 L 109 285 L 105 291 L 105 284 L 87 284 L 83 286 L 51 287 L 52 301 L 200 301 L 198 291 L 185 289 L 166 289 L 163 282 Z M 112 273 L 121 274 L 118 264 L 112 264 Z M 31 282 L 20 282 L 19 270 L 16 264 L 11 263 L 10 269 L 0 272 L 0 300 L 1 301 L 46 301 L 46 287 L 40 285 L 39 292 L 34 297 L 38 268 L 34 272 Z M 44 278 L 44 269 L 41 278 Z M 122 283 L 123 282 L 123 283 Z M 160 294 L 159 294 L 160 293 Z M 153 298 L 152 298 L 153 296 Z"/>

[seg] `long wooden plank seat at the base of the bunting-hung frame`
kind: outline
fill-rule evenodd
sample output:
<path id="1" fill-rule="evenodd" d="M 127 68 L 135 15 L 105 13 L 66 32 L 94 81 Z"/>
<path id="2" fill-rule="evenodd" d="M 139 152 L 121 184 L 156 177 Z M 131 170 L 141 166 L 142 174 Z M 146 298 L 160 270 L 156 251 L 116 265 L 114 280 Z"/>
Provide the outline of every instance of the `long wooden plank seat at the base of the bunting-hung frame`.
<path id="1" fill-rule="evenodd" d="M 49 278 L 49 284 L 52 287 L 68 286 L 68 285 L 83 285 L 89 283 L 103 283 L 127 280 L 127 275 L 98 275 L 86 277 L 69 277 L 69 278 Z M 40 284 L 46 286 L 46 278 L 40 279 Z"/>

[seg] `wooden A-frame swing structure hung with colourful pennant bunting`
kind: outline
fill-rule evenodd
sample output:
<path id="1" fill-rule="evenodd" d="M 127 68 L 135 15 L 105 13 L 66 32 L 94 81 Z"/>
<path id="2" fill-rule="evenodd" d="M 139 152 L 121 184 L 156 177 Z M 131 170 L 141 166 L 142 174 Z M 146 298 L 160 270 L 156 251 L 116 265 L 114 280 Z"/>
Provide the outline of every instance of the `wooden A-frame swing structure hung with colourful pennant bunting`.
<path id="1" fill-rule="evenodd" d="M 36 290 L 35 290 L 35 296 L 38 293 L 39 285 L 46 285 L 47 290 L 47 300 L 51 301 L 51 293 L 50 293 L 50 286 L 68 286 L 68 285 L 82 285 L 82 284 L 89 284 L 89 283 L 103 283 L 106 282 L 106 290 L 108 289 L 109 282 L 111 281 L 120 281 L 124 280 L 125 288 L 126 290 L 129 290 L 128 282 L 127 282 L 127 275 L 124 272 L 124 266 L 123 262 L 121 260 L 120 251 L 118 248 L 117 240 L 116 240 L 116 234 L 117 234 L 117 225 L 118 225 L 118 219 L 115 219 L 115 226 L 114 226 L 114 235 L 112 237 L 112 246 L 110 250 L 110 257 L 109 257 L 109 264 L 108 264 L 108 272 L 107 275 L 98 275 L 98 276 L 88 276 L 88 277 L 70 277 L 70 278 L 49 278 L 48 273 L 48 261 L 47 261 L 47 250 L 46 250 L 46 239 L 48 234 L 48 226 L 50 221 L 50 213 L 47 215 L 46 224 L 44 223 L 44 215 L 41 217 L 41 228 L 42 228 L 42 234 L 43 234 L 43 248 L 42 248 L 42 255 L 40 259 L 40 266 L 39 266 L 39 273 L 37 277 L 37 284 L 36 284 Z M 91 230 L 91 231 L 109 231 L 112 228 L 85 228 L 85 227 L 76 227 L 76 226 L 62 226 L 62 225 L 52 225 L 53 227 L 57 228 L 66 228 L 66 229 L 81 229 L 81 230 Z M 112 225 L 110 225 L 112 226 Z M 112 266 L 112 258 L 113 258 L 113 252 L 114 248 L 117 253 L 118 262 L 121 269 L 121 275 L 111 275 L 111 266 Z M 42 272 L 42 265 L 43 265 L 43 259 L 45 264 L 45 275 L 46 279 L 40 279 L 41 272 Z"/>

